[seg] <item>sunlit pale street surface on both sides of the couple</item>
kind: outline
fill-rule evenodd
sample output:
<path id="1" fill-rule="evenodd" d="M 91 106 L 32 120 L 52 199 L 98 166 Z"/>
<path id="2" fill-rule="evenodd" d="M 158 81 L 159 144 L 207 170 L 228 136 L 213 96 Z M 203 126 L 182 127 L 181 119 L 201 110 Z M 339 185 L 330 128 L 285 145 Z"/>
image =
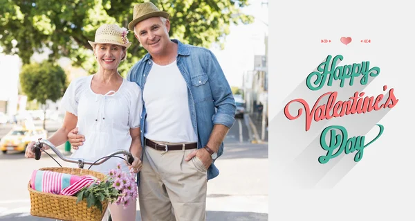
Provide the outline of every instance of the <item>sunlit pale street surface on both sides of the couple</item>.
<path id="1" fill-rule="evenodd" d="M 235 121 L 225 139 L 223 156 L 216 161 L 220 175 L 208 182 L 208 220 L 268 220 L 268 144 L 251 143 L 247 117 Z M 58 122 L 46 123 L 49 135 L 58 127 Z M 10 125 L 0 125 L 0 138 L 10 128 Z M 62 146 L 59 149 L 64 150 Z M 57 161 L 62 166 L 68 165 L 60 159 Z M 21 153 L 0 154 L 1 221 L 50 220 L 30 215 L 27 188 L 33 170 L 51 166 L 57 163 L 46 154 L 39 161 L 25 159 Z"/>

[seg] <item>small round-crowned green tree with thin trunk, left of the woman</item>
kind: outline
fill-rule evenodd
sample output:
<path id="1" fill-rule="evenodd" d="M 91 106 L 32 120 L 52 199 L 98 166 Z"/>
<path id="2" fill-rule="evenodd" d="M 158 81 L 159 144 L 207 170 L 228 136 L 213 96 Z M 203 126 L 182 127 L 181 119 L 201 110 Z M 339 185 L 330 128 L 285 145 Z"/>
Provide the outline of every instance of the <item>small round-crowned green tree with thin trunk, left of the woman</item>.
<path id="1" fill-rule="evenodd" d="M 20 73 L 21 89 L 28 100 L 46 105 L 46 100 L 56 102 L 66 91 L 66 73 L 62 67 L 45 60 L 42 63 L 25 64 Z M 46 108 L 44 108 L 44 129 Z"/>

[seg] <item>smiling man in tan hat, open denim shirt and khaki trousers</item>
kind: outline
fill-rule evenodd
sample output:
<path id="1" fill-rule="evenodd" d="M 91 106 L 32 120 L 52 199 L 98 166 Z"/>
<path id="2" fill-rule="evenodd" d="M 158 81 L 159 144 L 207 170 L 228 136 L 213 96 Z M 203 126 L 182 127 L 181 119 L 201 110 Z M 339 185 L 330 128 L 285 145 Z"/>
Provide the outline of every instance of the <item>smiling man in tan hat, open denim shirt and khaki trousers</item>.
<path id="1" fill-rule="evenodd" d="M 232 91 L 211 51 L 169 38 L 169 14 L 153 3 L 134 6 L 129 29 L 148 51 L 127 77 L 142 89 L 142 220 L 205 220 L 207 182 L 234 123 Z"/>

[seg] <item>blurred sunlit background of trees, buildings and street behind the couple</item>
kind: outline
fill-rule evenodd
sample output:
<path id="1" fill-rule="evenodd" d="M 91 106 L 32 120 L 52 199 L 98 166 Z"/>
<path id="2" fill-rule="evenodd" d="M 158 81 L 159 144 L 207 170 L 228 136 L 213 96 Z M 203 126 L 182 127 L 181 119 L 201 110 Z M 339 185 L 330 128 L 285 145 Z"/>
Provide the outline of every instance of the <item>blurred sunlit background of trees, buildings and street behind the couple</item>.
<path id="1" fill-rule="evenodd" d="M 95 73 L 87 40 L 105 23 L 127 27 L 141 2 L 0 0 L 0 176 L 17 183 L 0 184 L 0 220 L 46 220 L 28 214 L 27 182 L 33 169 L 57 164 L 22 152 L 60 127 L 68 83 Z M 208 183 L 208 220 L 268 220 L 268 0 L 151 2 L 171 15 L 171 38 L 212 50 L 237 101 L 221 175 Z M 124 77 L 146 53 L 128 37 Z M 68 143 L 59 150 L 71 154 Z"/>

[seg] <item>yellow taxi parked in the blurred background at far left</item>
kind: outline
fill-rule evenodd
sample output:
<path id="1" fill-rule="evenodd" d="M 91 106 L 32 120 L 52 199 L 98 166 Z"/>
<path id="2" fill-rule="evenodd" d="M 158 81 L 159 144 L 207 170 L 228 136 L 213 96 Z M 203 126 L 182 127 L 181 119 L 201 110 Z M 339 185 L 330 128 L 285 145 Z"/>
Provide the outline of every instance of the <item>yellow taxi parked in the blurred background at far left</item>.
<path id="1" fill-rule="evenodd" d="M 8 151 L 25 152 L 30 141 L 46 139 L 48 132 L 42 127 L 15 127 L 0 140 L 0 150 L 3 154 Z"/>

